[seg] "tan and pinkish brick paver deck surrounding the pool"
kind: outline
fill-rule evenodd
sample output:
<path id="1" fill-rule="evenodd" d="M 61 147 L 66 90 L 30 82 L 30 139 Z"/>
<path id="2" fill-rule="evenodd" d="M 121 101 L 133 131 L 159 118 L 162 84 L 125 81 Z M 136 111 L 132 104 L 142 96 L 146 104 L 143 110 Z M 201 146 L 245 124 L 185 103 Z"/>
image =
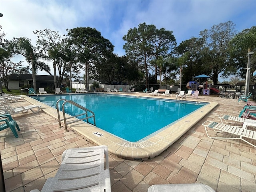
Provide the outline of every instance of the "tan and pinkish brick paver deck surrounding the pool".
<path id="1" fill-rule="evenodd" d="M 148 96 L 146 93 L 136 95 Z M 206 120 L 219 122 L 219 114 L 238 116 L 245 103 L 213 96 L 190 99 L 198 102 L 211 101 L 213 106 L 217 105 L 212 106 L 213 109 L 208 113 L 207 109 L 198 111 L 198 115 L 206 113 L 202 116 L 195 115 L 184 120 L 179 129 L 186 127 L 182 130 L 185 133 L 176 141 L 170 138 L 170 142 L 173 142 L 171 146 L 166 147 L 166 144 L 163 144 L 163 147 L 160 144 L 162 142 L 158 144 L 159 150 L 156 150 L 155 146 L 146 146 L 150 159 L 131 160 L 136 159 L 136 156 L 131 159 L 119 158 L 117 156 L 128 154 L 129 151 L 120 150 L 114 155 L 115 150 L 106 143 L 110 151 L 112 192 L 146 192 L 152 184 L 198 182 L 207 184 L 218 192 L 255 191 L 255 148 L 240 140 L 210 139 L 202 126 Z M 28 104 L 28 101 L 20 100 L 12 103 L 12 106 Z M 98 145 L 108 138 L 104 133 L 103 138 L 95 137 L 100 138 L 96 142 L 93 141 L 94 137 L 84 139 L 80 132 L 82 127 L 87 127 L 79 125 L 76 125 L 78 130 L 65 132 L 63 127 L 59 128 L 58 120 L 52 117 L 51 113 L 56 116 L 56 112 L 46 106 L 43 106 L 43 110 L 38 114 L 28 112 L 14 115 L 21 129 L 19 138 L 15 138 L 8 130 L 0 132 L 0 150 L 7 192 L 40 190 L 46 179 L 55 175 L 65 149 Z M 91 132 L 94 133 L 94 130 Z M 131 145 L 130 142 L 127 145 Z M 141 145 L 124 147 L 131 147 L 133 150 L 139 148 L 139 151 L 143 148 Z M 159 155 L 153 158 L 158 153 Z"/>

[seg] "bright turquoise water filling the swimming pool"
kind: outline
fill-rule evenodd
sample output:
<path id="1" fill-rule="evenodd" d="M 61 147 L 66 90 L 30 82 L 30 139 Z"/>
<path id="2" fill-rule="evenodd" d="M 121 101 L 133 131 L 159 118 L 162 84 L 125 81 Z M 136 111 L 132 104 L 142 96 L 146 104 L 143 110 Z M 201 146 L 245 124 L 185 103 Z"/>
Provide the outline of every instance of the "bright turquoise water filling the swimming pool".
<path id="1" fill-rule="evenodd" d="M 130 142 L 139 141 L 206 104 L 109 94 L 45 95 L 37 100 L 56 108 L 60 98 L 72 100 L 93 111 L 98 128 Z M 66 113 L 82 113 L 79 108 L 68 105 L 65 105 Z"/>

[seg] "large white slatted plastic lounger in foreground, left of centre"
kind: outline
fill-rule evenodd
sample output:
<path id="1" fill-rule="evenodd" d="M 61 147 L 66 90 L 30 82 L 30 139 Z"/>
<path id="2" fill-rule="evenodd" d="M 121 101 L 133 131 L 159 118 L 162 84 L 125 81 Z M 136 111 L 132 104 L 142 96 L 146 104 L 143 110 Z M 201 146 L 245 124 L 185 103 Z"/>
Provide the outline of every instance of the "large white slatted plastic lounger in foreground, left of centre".
<path id="1" fill-rule="evenodd" d="M 54 191 L 111 192 L 108 147 L 93 146 L 65 150 L 56 175 L 48 178 L 41 190 Z"/>

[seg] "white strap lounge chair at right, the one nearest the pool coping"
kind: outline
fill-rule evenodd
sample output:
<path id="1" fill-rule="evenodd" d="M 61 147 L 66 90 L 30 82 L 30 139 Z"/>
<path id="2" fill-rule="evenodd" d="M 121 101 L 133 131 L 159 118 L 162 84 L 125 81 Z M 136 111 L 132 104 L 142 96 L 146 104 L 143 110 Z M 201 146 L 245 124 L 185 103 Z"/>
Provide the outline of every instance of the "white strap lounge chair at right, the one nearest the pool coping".
<path id="1" fill-rule="evenodd" d="M 248 139 L 256 140 L 256 131 L 244 129 L 243 127 L 217 123 L 217 122 L 213 122 L 213 121 L 206 121 L 202 125 L 204 126 L 206 134 L 209 138 L 212 138 L 212 139 L 240 139 L 256 148 L 256 146 L 254 144 L 252 144 L 244 139 L 244 138 L 248 138 Z M 212 128 L 216 132 L 230 133 L 237 137 L 211 137 L 211 136 L 209 136 L 209 134 L 207 132 L 207 128 Z"/>

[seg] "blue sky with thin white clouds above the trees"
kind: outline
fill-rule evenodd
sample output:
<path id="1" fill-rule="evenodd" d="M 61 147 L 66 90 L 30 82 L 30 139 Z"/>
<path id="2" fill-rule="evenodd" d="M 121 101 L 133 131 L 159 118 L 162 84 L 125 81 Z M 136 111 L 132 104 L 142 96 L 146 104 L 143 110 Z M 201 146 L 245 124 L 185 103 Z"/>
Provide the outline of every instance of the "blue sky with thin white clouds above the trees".
<path id="1" fill-rule="evenodd" d="M 143 22 L 173 31 L 177 44 L 222 22 L 232 21 L 237 32 L 251 28 L 256 25 L 256 0 L 1 0 L 0 13 L 8 40 L 24 36 L 35 46 L 34 30 L 66 34 L 67 28 L 92 27 L 122 56 L 122 37 Z"/>

